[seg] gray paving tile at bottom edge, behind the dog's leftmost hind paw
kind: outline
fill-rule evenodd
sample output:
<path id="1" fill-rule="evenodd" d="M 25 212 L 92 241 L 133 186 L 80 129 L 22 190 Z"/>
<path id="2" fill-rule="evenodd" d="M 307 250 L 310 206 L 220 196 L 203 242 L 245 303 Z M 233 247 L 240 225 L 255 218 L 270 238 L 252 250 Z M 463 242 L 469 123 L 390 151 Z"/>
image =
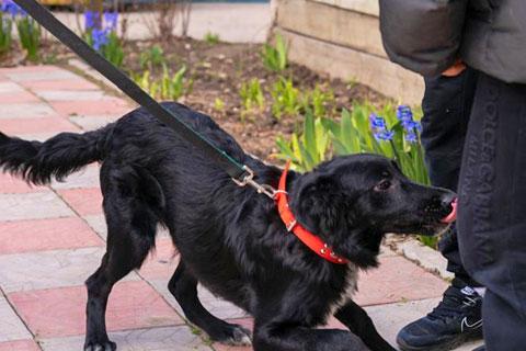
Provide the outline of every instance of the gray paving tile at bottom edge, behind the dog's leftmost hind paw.
<path id="1" fill-rule="evenodd" d="M 187 326 L 111 332 L 119 351 L 205 351 L 211 350 Z M 82 350 L 84 337 L 39 340 L 44 351 Z"/>

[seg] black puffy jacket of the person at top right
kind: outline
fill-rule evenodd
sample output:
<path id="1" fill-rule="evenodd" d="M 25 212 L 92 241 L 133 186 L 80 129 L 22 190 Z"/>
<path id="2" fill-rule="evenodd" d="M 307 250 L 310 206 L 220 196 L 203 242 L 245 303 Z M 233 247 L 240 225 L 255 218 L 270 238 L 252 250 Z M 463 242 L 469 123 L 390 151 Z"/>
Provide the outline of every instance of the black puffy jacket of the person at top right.
<path id="1" fill-rule="evenodd" d="M 380 30 L 391 60 L 424 76 L 461 58 L 526 83 L 526 0 L 380 0 Z"/>

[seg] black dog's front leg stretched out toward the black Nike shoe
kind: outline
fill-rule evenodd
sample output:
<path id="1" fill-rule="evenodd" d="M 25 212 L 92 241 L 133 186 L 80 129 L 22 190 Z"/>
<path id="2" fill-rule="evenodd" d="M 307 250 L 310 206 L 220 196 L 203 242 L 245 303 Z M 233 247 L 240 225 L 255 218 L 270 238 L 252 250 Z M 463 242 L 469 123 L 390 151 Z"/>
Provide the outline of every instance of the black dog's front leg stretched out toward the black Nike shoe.
<path id="1" fill-rule="evenodd" d="M 395 351 L 395 349 L 378 333 L 367 313 L 348 301 L 334 317 L 357 335 L 373 351 Z"/>

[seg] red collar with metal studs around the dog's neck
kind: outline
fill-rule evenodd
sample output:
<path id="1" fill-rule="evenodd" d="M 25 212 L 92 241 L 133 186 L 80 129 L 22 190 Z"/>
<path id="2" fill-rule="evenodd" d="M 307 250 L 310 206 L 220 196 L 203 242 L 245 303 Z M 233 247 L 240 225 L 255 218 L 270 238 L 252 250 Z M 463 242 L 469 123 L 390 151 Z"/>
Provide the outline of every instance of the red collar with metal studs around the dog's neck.
<path id="1" fill-rule="evenodd" d="M 288 194 L 285 190 L 287 185 L 287 173 L 289 166 L 290 162 L 287 162 L 285 169 L 283 170 L 282 178 L 279 179 L 279 188 L 276 193 L 277 211 L 279 212 L 279 217 L 282 217 L 287 230 L 294 233 L 294 235 L 296 235 L 301 242 L 304 242 L 307 247 L 325 260 L 338 264 L 348 263 L 347 259 L 339 257 L 325 242 L 323 242 L 323 240 L 321 240 L 320 237 L 307 230 L 296 220 L 296 216 L 288 206 Z"/>

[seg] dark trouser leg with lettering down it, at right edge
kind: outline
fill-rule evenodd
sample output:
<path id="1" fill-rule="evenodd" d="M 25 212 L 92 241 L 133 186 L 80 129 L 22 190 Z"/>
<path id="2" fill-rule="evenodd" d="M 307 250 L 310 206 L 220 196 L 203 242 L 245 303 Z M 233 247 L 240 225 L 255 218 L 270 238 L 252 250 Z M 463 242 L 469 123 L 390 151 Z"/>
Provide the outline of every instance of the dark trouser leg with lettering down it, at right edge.
<path id="1" fill-rule="evenodd" d="M 464 267 L 487 287 L 487 349 L 526 350 L 526 84 L 479 73 L 458 211 Z"/>

